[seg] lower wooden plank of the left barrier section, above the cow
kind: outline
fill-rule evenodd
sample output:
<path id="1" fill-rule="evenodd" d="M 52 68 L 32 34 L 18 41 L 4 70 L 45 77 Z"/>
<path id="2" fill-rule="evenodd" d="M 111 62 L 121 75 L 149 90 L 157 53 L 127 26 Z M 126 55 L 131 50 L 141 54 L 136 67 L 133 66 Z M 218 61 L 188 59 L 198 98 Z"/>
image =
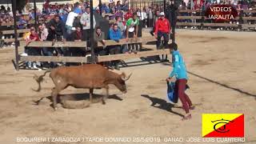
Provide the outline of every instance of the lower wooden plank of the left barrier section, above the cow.
<path id="1" fill-rule="evenodd" d="M 30 62 L 88 62 L 86 57 L 20 56 L 20 61 Z"/>

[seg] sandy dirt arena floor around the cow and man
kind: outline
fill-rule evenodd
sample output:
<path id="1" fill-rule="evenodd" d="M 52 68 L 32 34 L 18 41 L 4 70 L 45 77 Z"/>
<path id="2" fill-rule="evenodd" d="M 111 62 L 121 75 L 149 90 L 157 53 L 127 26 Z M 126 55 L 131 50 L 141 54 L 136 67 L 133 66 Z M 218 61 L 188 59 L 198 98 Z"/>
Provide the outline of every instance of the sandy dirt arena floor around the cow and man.
<path id="1" fill-rule="evenodd" d="M 170 63 L 130 60 L 129 66 L 121 69 L 133 72 L 127 94 L 111 86 L 112 96 L 106 105 L 70 110 L 58 104 L 54 111 L 47 98 L 39 105 L 34 103 L 50 96 L 53 83 L 48 75 L 42 91 L 34 92 L 31 88 L 37 88 L 37 83 L 33 76 L 43 71 L 16 71 L 11 62 L 14 50 L 0 50 L 0 143 L 17 143 L 22 137 L 148 137 L 162 138 L 160 143 L 163 138 L 202 138 L 203 113 L 245 114 L 246 142 L 256 143 L 255 38 L 256 33 L 247 32 L 178 30 L 176 39 L 190 78 L 186 93 L 197 105 L 193 118 L 186 122 L 181 121 L 181 103 L 173 106 L 166 102 Z M 87 92 L 68 88 L 62 94 L 88 97 Z M 95 93 L 102 94 L 102 90 Z"/>

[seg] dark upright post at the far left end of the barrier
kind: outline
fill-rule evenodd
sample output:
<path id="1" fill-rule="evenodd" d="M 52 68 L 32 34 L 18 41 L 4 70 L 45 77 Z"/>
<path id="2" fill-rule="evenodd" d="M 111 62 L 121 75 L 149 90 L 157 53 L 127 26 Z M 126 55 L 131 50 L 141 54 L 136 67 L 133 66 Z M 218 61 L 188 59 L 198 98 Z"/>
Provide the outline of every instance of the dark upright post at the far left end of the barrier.
<path id="1" fill-rule="evenodd" d="M 18 67 L 18 60 L 19 60 L 19 56 L 18 56 L 18 34 L 17 34 L 17 17 L 16 17 L 16 0 L 12 0 L 12 10 L 13 10 L 13 14 L 14 14 L 14 36 L 15 36 L 15 68 L 16 70 L 19 70 Z"/>

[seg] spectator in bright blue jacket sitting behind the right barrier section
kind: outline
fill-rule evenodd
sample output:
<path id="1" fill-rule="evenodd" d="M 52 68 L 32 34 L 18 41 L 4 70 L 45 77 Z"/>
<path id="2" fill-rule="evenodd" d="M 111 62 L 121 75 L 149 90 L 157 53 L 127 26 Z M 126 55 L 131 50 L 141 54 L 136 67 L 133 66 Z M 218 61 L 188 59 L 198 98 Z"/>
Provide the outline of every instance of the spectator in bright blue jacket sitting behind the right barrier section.
<path id="1" fill-rule="evenodd" d="M 122 38 L 121 31 L 118 29 L 118 24 L 114 24 L 113 28 L 110 28 L 110 39 L 114 40 L 115 42 L 119 42 L 119 40 Z M 110 54 L 120 54 L 121 46 L 110 46 Z M 119 61 L 113 61 L 111 62 L 112 66 L 115 66 L 116 70 L 119 70 Z"/>

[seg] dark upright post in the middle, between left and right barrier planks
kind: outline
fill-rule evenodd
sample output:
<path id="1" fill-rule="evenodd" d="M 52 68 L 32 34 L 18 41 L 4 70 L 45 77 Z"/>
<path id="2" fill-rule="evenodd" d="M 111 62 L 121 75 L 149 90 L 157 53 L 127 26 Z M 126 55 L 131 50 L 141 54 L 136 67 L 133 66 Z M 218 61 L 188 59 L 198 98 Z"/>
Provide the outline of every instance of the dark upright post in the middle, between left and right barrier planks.
<path id="1" fill-rule="evenodd" d="M 91 49 L 91 59 L 92 59 L 92 63 L 95 63 L 95 54 L 94 54 L 94 8 L 93 8 L 93 0 L 90 0 L 90 49 Z"/>

